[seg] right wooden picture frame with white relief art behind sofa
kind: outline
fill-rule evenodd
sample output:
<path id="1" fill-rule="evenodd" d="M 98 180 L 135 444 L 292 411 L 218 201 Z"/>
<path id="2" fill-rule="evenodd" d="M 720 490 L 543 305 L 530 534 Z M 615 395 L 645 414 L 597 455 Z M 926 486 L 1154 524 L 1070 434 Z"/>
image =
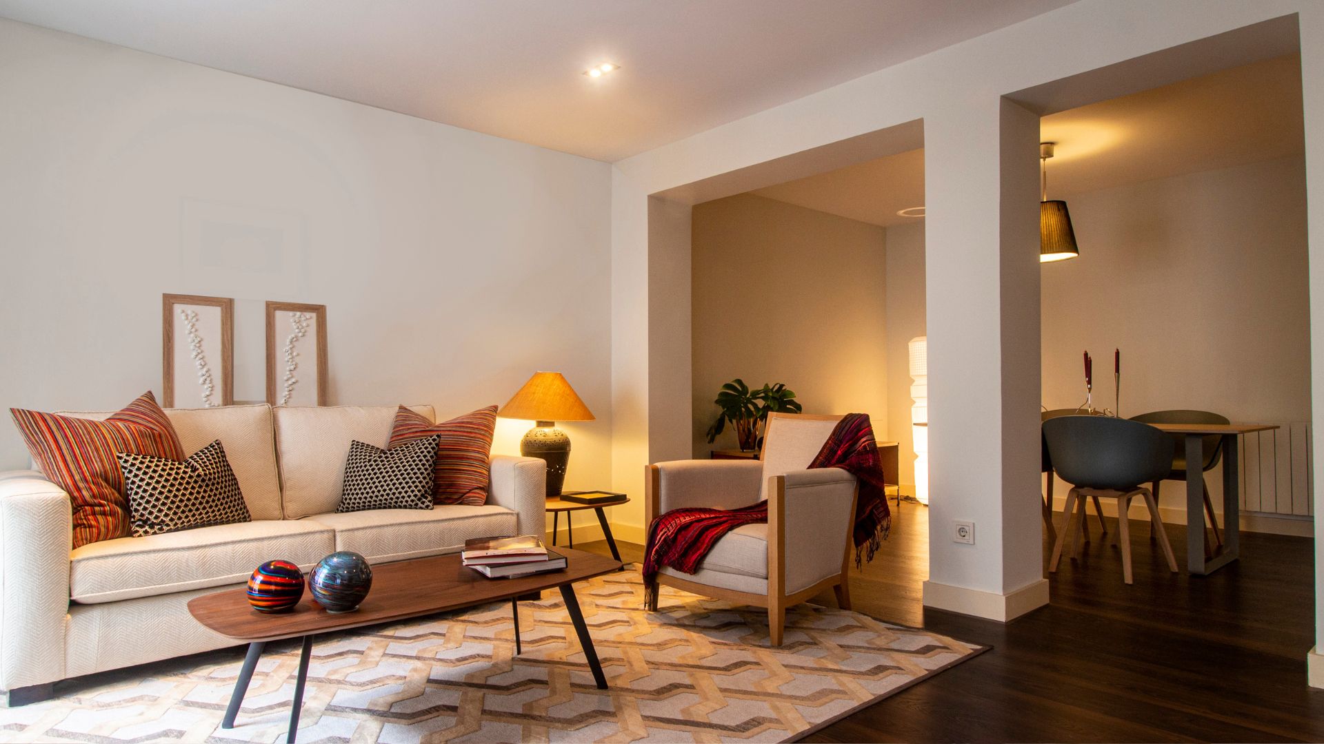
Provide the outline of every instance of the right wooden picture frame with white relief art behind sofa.
<path id="1" fill-rule="evenodd" d="M 298 318 L 298 323 L 295 322 Z M 311 326 L 311 327 L 310 327 Z M 302 328 L 303 332 L 299 332 Z M 316 344 L 316 363 L 310 368 L 307 342 Z M 293 367 L 285 351 L 290 348 L 299 359 Z M 316 377 L 310 395 L 306 383 L 308 372 Z M 291 380 L 286 380 L 291 375 Z M 299 375 L 303 375 L 299 377 Z M 286 384 L 289 383 L 289 385 Z M 271 405 L 326 405 L 327 404 L 327 306 L 302 302 L 266 303 L 266 402 Z"/>

